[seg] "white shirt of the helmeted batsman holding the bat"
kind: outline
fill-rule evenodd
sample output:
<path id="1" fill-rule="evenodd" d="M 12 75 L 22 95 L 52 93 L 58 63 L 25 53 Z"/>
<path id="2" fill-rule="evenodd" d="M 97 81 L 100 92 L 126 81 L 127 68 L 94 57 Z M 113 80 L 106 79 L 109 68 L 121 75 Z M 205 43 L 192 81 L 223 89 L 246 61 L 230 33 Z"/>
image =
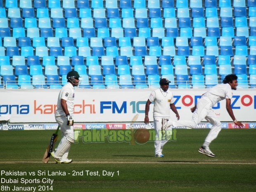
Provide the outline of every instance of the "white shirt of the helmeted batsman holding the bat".
<path id="1" fill-rule="evenodd" d="M 65 116 L 61 105 L 61 100 L 66 100 L 66 104 L 69 110 L 69 114 L 73 116 L 73 107 L 74 107 L 74 100 L 75 100 L 75 91 L 74 87 L 71 83 L 67 83 L 64 85 L 62 90 L 59 92 L 58 102 L 57 102 L 57 110 L 55 112 L 55 116 Z"/>

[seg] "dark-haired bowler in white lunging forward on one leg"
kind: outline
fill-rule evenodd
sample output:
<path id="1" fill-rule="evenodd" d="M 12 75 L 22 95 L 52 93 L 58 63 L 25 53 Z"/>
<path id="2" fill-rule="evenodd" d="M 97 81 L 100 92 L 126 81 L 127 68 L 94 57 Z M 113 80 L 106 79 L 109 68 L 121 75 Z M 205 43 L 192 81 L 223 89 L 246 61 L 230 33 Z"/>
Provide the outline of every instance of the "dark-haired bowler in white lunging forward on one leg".
<path id="1" fill-rule="evenodd" d="M 205 154 L 207 156 L 215 157 L 215 154 L 209 149 L 210 143 L 217 138 L 218 133 L 221 130 L 221 123 L 213 113 L 212 107 L 221 100 L 226 100 L 226 109 L 228 114 L 234 123 L 240 128 L 243 124 L 234 116 L 233 110 L 231 108 L 231 98 L 233 96 L 232 90 L 237 89 L 237 76 L 230 74 L 225 76 L 222 84 L 215 85 L 208 92 L 204 93 L 201 98 L 197 101 L 196 106 L 192 107 L 190 110 L 193 113 L 191 121 L 173 121 L 168 122 L 168 125 L 176 126 L 186 126 L 189 128 L 195 128 L 198 123 L 203 119 L 206 119 L 209 123 L 213 125 L 209 134 L 207 135 L 204 144 L 199 148 L 198 152 Z"/>

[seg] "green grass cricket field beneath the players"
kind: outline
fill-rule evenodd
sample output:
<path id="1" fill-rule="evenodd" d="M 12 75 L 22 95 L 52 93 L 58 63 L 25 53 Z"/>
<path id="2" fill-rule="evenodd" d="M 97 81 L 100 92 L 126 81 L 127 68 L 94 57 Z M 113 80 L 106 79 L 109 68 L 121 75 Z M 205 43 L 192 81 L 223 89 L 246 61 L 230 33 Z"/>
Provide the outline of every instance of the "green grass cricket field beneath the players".
<path id="1" fill-rule="evenodd" d="M 73 163 L 55 164 L 51 159 L 43 164 L 54 130 L 0 131 L 0 190 L 18 191 L 13 190 L 18 186 L 49 192 L 255 192 L 256 129 L 221 130 L 210 146 L 216 158 L 197 152 L 208 132 L 178 129 L 177 141 L 164 147 L 164 158 L 154 157 L 153 142 L 79 142 L 71 146 Z M 9 176 L 3 171 L 24 171 L 27 175 Z M 104 176 L 102 171 L 114 172 L 114 176 Z M 19 183 L 7 183 L 9 179 Z M 52 185 L 43 183 L 49 179 Z M 24 181 L 39 183 L 25 185 Z"/>

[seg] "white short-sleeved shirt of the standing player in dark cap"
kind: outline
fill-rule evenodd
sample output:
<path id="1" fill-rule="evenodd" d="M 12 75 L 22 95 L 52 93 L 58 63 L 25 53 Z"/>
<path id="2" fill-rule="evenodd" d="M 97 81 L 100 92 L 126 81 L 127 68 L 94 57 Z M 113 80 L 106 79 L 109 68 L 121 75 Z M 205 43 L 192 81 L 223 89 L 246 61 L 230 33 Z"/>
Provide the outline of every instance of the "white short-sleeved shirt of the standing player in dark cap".
<path id="1" fill-rule="evenodd" d="M 171 91 L 167 90 L 164 92 L 161 88 L 156 89 L 149 95 L 149 101 L 154 102 L 154 118 L 170 118 L 170 104 L 174 102 L 173 93 Z"/>

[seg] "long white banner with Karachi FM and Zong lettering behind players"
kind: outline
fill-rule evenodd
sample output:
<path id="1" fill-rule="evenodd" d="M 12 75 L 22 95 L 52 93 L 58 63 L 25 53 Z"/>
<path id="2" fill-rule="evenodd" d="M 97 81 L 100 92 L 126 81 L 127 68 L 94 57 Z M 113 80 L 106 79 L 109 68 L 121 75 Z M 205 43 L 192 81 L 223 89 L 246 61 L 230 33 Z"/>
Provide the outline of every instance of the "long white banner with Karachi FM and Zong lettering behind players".
<path id="1" fill-rule="evenodd" d="M 86 94 L 85 94 L 86 91 Z M 76 123 L 130 122 L 138 114 L 137 123 L 144 122 L 145 104 L 152 89 L 76 89 L 74 119 Z M 207 89 L 171 89 L 174 104 L 180 114 L 180 120 L 190 120 L 193 107 Z M 17 100 L 19 95 L 19 100 Z M 55 123 L 55 110 L 59 90 L 1 90 L 0 115 L 10 116 L 10 123 Z M 104 97 L 102 97 L 104 95 Z M 116 97 L 113 97 L 115 95 Z M 47 98 L 47 100 L 45 100 Z M 240 121 L 255 121 L 256 94 L 253 89 L 233 90 L 231 107 Z M 150 105 L 149 121 L 153 121 L 153 107 Z M 225 100 L 213 106 L 220 121 L 231 121 L 226 110 Z M 171 119 L 176 119 L 170 110 Z"/>

